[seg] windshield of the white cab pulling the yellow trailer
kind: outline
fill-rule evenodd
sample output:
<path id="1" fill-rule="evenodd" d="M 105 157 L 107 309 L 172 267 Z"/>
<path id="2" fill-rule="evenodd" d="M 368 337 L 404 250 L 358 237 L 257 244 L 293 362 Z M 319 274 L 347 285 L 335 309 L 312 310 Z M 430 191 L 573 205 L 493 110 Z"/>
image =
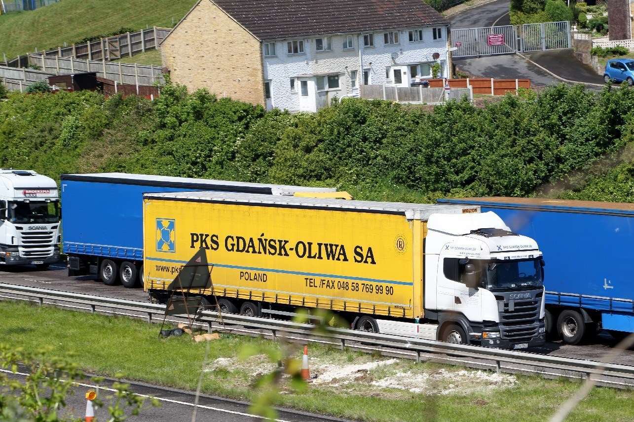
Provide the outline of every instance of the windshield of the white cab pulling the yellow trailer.
<path id="1" fill-rule="evenodd" d="M 489 262 L 485 283 L 489 290 L 540 288 L 541 259 Z"/>

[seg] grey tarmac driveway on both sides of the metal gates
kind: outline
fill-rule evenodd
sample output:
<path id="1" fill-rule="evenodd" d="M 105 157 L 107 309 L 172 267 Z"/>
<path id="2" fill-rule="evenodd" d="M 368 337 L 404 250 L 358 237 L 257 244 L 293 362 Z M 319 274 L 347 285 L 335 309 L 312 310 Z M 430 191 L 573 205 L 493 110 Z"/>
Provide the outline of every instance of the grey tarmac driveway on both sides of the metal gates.
<path id="1" fill-rule="evenodd" d="M 508 0 L 484 4 L 451 17 L 451 29 L 510 25 Z M 527 54 L 531 60 L 555 75 L 578 82 L 603 84 L 601 75 L 574 57 L 572 49 L 540 51 Z M 539 67 L 515 54 L 500 54 L 481 58 L 454 59 L 456 67 L 469 75 L 500 79 L 530 79 L 533 86 L 562 83 Z"/>

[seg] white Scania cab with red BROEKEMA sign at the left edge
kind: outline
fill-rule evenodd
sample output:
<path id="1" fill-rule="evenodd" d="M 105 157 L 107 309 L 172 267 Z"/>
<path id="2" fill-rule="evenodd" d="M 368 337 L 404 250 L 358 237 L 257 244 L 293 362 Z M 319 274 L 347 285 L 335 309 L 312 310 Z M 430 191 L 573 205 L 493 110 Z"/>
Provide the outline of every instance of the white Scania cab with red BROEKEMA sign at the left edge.
<path id="1" fill-rule="evenodd" d="M 57 184 L 33 170 L 0 169 L 0 265 L 45 269 L 60 259 Z"/>

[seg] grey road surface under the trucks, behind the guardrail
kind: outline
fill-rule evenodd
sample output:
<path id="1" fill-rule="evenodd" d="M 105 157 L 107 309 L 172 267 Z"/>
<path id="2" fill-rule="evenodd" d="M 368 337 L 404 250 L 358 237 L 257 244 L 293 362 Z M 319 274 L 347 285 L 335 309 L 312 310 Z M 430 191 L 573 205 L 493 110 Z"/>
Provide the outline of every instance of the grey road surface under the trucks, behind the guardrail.
<path id="1" fill-rule="evenodd" d="M 86 295 L 117 297 L 130 300 L 148 300 L 141 288 L 127 289 L 123 286 L 107 286 L 91 276 L 68 277 L 63 267 L 51 267 L 47 271 L 36 271 L 32 267 L 6 267 L 0 271 L 0 282 L 14 285 L 32 286 L 61 291 L 72 291 Z M 0 304 L 1 305 L 1 304 Z M 611 336 L 602 334 L 585 345 L 565 345 L 562 342 L 548 342 L 543 347 L 530 350 L 534 353 L 590 359 L 598 361 L 616 344 Z M 620 364 L 634 366 L 634 350 L 628 350 L 619 357 Z"/>

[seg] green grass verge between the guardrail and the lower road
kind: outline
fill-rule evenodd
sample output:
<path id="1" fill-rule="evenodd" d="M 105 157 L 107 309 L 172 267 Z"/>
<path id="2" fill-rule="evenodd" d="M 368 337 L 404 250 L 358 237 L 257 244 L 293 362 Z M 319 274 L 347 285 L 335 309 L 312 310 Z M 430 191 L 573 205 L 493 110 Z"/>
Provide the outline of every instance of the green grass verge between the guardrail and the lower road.
<path id="1" fill-rule="evenodd" d="M 122 374 L 131 380 L 195 390 L 205 344 L 188 336 L 159 339 L 159 327 L 126 317 L 108 317 L 50 307 L 2 302 L 0 338 L 26 350 L 50 345 L 51 356 L 70 357 L 79 368 L 103 376 Z M 238 350 L 273 350 L 276 343 L 247 336 L 222 335 L 210 343 L 209 361 L 235 357 Z M 311 345 L 311 355 L 346 359 L 352 352 Z M 341 356 L 343 355 L 343 356 Z M 432 364 L 431 369 L 438 368 Z M 447 367 L 450 368 L 450 367 Z M 202 390 L 238 399 L 254 399 L 260 392 L 248 374 L 209 371 Z M 368 393 L 342 394 L 316 385 L 303 393 L 275 395 L 273 402 L 307 411 L 367 421 L 545 421 L 572 395 L 578 383 L 519 376 L 515 387 L 472 395 L 408 393 L 395 398 Z M 398 397 L 398 398 L 397 398 Z M 634 392 L 597 388 L 573 411 L 567 421 L 631 421 Z"/>

